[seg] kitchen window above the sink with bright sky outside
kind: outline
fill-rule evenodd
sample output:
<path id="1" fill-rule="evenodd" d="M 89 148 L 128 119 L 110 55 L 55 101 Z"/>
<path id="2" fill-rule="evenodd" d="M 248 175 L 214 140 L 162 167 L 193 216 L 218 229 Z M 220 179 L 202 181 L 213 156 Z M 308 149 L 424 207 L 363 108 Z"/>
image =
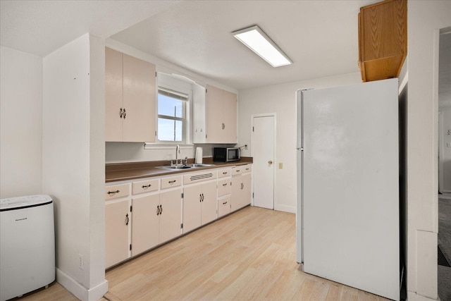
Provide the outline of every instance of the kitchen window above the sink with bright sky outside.
<path id="1" fill-rule="evenodd" d="M 187 102 L 187 94 L 159 87 L 156 136 L 159 142 L 186 142 Z"/>

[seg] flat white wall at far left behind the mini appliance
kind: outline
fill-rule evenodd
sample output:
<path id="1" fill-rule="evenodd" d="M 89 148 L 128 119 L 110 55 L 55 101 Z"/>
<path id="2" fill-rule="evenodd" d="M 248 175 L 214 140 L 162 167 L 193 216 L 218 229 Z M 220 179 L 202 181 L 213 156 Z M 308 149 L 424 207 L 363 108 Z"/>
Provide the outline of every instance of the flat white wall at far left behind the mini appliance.
<path id="1" fill-rule="evenodd" d="M 42 59 L 0 47 L 0 197 L 42 193 Z"/>

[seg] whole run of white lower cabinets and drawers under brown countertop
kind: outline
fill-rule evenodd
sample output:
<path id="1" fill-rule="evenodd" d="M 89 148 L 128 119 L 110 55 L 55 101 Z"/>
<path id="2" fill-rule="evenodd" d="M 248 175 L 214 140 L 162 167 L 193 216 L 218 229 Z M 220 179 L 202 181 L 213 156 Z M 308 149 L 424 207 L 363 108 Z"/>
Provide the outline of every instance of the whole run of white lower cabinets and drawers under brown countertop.
<path id="1" fill-rule="evenodd" d="M 109 183 L 105 267 L 250 204 L 250 166 Z"/>

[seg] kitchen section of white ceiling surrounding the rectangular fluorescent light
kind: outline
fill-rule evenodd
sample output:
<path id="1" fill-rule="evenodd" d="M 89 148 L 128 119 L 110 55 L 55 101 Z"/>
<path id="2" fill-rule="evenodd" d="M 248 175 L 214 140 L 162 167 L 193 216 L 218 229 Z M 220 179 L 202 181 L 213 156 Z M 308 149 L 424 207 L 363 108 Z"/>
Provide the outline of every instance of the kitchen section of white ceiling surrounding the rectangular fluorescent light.
<path id="1" fill-rule="evenodd" d="M 111 38 L 237 89 L 359 72 L 357 14 L 376 1 L 183 1 Z M 273 68 L 231 32 L 259 25 L 294 62 Z"/>

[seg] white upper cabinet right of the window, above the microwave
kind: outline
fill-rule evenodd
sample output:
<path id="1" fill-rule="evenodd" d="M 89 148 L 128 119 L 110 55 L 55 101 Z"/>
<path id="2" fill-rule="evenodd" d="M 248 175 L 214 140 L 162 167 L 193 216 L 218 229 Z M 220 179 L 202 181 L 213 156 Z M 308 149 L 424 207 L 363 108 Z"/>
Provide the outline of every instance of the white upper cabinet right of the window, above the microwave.
<path id="1" fill-rule="evenodd" d="M 237 94 L 206 86 L 204 106 L 194 100 L 193 142 L 237 142 Z"/>

